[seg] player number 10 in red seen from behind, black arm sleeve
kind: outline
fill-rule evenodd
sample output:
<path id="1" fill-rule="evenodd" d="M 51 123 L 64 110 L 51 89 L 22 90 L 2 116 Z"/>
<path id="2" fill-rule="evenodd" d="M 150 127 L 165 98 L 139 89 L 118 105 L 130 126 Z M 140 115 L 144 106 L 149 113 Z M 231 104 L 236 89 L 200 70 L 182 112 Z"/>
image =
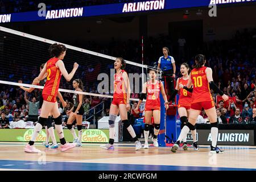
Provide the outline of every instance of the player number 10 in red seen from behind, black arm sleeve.
<path id="1" fill-rule="evenodd" d="M 192 69 L 188 83 L 186 85 L 187 88 L 191 88 L 193 84 L 189 119 L 187 124 L 181 130 L 180 136 L 177 139 L 177 142 L 171 148 L 171 151 L 176 152 L 179 148 L 180 140 L 187 136 L 189 130 L 195 130 L 196 119 L 203 107 L 205 113 L 209 117 L 211 125 L 210 134 L 212 135 L 212 144 L 210 145 L 210 152 L 217 154 L 222 153 L 224 151 L 217 147 L 218 122 L 214 101 L 212 95 L 210 94 L 210 89 L 213 89 L 215 92 L 220 94 L 224 101 L 228 100 L 228 96 L 226 96 L 220 89 L 218 89 L 218 86 L 214 84 L 212 78 L 212 69 L 204 66 L 206 63 L 205 56 L 197 55 L 195 57 L 195 61 L 196 66 L 194 69 Z"/>

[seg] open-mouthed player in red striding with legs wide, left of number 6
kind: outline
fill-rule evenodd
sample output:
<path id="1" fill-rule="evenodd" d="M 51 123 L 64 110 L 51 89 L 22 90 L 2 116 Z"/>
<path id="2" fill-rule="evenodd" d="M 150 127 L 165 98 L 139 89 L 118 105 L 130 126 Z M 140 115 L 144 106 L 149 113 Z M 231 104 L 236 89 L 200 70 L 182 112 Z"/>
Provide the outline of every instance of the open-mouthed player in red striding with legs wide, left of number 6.
<path id="1" fill-rule="evenodd" d="M 135 150 L 141 148 L 141 142 L 139 142 L 133 126 L 127 119 L 127 110 L 130 110 L 130 82 L 127 73 L 125 72 L 125 60 L 122 57 L 115 59 L 114 63 L 115 75 L 114 75 L 114 95 L 113 101 L 109 111 L 109 143 L 101 145 L 101 148 L 106 150 L 114 150 L 114 133 L 115 133 L 115 118 L 120 113 L 123 126 L 129 131 L 131 137 L 135 142 Z"/>

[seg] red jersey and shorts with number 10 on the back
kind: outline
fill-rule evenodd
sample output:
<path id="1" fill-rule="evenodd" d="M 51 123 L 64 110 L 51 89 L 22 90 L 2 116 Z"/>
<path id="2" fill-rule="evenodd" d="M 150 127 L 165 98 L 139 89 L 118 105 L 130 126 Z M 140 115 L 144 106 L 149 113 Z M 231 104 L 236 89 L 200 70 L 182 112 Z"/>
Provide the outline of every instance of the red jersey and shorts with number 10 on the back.
<path id="1" fill-rule="evenodd" d="M 193 84 L 191 109 L 201 110 L 202 107 L 207 110 L 214 107 L 210 86 L 205 73 L 207 67 L 194 68 L 191 71 L 191 80 Z"/>

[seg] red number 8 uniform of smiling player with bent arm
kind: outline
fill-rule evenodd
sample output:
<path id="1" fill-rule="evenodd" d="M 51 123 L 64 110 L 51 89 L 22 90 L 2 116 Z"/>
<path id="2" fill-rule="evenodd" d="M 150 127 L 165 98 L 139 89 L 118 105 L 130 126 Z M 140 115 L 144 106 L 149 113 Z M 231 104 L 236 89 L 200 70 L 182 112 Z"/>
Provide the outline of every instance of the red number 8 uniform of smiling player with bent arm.
<path id="1" fill-rule="evenodd" d="M 179 84 L 187 85 L 188 79 L 184 80 L 183 77 L 179 78 Z M 188 92 L 188 90 L 185 90 L 183 88 L 180 88 L 180 98 L 178 105 L 184 105 L 184 106 L 191 106 L 192 101 L 192 93 Z"/>

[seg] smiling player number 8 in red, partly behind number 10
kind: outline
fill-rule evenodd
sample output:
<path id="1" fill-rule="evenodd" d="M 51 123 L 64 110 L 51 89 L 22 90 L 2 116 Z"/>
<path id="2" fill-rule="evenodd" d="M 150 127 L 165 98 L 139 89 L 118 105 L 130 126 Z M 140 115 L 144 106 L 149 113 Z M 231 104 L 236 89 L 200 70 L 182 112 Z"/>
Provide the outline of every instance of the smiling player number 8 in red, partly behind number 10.
<path id="1" fill-rule="evenodd" d="M 187 85 L 189 80 L 189 73 L 188 73 L 189 66 L 187 63 L 181 64 L 180 72 L 182 77 L 177 78 L 175 93 L 173 96 L 175 96 L 179 92 L 180 97 L 179 97 L 179 102 L 177 104 L 177 108 L 178 108 L 178 113 L 179 113 L 180 122 L 181 122 L 180 129 L 183 129 L 183 127 L 188 122 L 193 89 L 192 88 L 188 89 L 185 87 L 185 85 Z M 197 142 L 196 142 L 196 128 L 195 130 L 191 130 L 191 134 L 193 137 L 193 148 L 194 150 L 199 150 L 199 146 L 197 146 Z M 185 138 L 183 139 L 182 148 L 184 150 L 188 150 L 187 136 L 185 136 Z"/>

